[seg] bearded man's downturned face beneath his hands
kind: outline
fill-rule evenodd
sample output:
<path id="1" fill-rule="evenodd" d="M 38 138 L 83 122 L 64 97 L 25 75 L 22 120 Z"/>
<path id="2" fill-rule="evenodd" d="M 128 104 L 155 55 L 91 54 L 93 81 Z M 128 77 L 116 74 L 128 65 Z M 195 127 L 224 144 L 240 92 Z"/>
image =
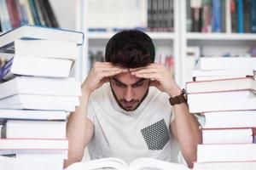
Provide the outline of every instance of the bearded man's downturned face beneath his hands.
<path id="1" fill-rule="evenodd" d="M 110 85 L 118 105 L 125 111 L 134 111 L 148 94 L 149 79 L 127 72 L 110 77 Z"/>

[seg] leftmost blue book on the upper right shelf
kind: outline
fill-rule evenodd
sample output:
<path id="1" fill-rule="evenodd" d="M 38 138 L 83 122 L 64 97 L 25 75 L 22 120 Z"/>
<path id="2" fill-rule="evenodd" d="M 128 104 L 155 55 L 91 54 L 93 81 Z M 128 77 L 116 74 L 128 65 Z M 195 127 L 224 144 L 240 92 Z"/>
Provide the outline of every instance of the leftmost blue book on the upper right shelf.
<path id="1" fill-rule="evenodd" d="M 212 29 L 213 32 L 221 32 L 222 28 L 222 18 L 221 18 L 221 0 L 212 0 L 212 15 L 213 23 Z"/>

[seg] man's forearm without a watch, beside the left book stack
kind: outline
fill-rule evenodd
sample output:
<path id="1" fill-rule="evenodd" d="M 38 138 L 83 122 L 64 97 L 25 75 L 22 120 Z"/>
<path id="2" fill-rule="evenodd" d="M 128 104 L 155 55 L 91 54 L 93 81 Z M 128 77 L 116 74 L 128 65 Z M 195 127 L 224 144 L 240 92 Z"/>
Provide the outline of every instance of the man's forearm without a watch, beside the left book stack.
<path id="1" fill-rule="evenodd" d="M 68 139 L 68 159 L 65 161 L 67 167 L 75 161 L 80 161 L 84 155 L 84 148 L 89 138 L 86 137 L 87 122 L 87 106 L 90 94 L 82 90 L 82 96 L 79 98 L 80 105 L 76 107 L 76 111 L 71 113 L 67 122 L 67 139 Z"/>

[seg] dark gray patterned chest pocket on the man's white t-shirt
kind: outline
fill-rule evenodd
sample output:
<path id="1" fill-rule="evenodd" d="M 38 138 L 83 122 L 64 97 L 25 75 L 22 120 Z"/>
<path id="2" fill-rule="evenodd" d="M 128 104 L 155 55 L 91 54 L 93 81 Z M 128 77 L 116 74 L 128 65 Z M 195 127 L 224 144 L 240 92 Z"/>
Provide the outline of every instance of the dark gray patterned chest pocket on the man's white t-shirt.
<path id="1" fill-rule="evenodd" d="M 164 119 L 143 128 L 141 133 L 146 141 L 148 150 L 162 150 L 170 140 L 170 134 Z"/>

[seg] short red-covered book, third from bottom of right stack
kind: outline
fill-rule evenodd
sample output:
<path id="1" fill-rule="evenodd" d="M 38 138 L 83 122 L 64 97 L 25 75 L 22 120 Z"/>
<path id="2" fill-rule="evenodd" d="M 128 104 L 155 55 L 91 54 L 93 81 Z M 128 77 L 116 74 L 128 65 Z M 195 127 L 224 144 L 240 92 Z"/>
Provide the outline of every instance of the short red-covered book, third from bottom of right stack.
<path id="1" fill-rule="evenodd" d="M 250 144 L 252 128 L 202 129 L 202 144 Z"/>

